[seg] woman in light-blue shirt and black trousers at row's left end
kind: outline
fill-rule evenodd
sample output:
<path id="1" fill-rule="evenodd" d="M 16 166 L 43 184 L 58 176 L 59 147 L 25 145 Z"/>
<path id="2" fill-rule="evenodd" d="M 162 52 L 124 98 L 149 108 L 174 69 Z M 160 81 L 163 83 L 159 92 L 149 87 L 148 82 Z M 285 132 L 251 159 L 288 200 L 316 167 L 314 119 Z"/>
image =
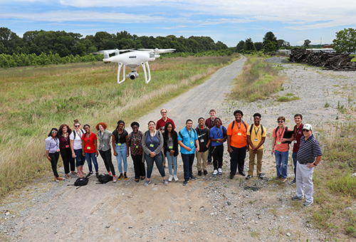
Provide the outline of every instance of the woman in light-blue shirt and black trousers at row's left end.
<path id="1" fill-rule="evenodd" d="M 54 181 L 63 181 L 63 177 L 59 177 L 57 172 L 57 163 L 59 159 L 59 139 L 57 137 L 58 130 L 53 127 L 51 132 L 48 134 L 48 138 L 45 140 L 46 142 L 46 157 L 51 162 L 52 171 L 54 175 Z"/>

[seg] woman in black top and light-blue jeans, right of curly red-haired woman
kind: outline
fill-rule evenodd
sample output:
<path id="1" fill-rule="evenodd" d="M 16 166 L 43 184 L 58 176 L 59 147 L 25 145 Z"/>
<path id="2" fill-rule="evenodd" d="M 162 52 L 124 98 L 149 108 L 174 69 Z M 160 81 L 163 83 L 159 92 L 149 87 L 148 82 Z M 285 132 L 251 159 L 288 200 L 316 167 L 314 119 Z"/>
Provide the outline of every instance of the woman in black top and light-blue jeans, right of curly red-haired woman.
<path id="1" fill-rule="evenodd" d="M 112 131 L 112 149 L 117 161 L 117 168 L 119 169 L 120 176 L 117 180 L 127 177 L 127 157 L 129 157 L 129 149 L 127 144 L 127 136 L 129 133 L 125 130 L 125 122 L 123 120 L 117 121 L 117 126 Z M 122 162 L 124 163 L 124 173 L 122 174 Z"/>

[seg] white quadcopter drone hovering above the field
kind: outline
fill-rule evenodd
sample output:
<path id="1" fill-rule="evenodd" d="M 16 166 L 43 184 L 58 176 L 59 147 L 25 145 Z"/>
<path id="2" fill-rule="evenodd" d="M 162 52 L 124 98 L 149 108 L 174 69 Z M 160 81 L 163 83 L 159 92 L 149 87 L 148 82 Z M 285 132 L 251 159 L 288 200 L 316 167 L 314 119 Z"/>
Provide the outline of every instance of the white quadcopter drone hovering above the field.
<path id="1" fill-rule="evenodd" d="M 120 54 L 120 52 L 130 51 L 127 53 Z M 151 80 L 151 72 L 150 65 L 148 65 L 148 61 L 155 61 L 156 58 L 159 58 L 159 53 L 172 53 L 175 51 L 174 48 L 169 49 L 139 49 L 138 51 L 133 51 L 132 49 L 128 50 L 106 50 L 106 51 L 98 51 L 95 54 L 103 54 L 104 62 L 117 62 L 119 64 L 117 68 L 117 84 L 123 83 L 125 78 L 130 78 L 131 80 L 135 80 L 138 78 L 138 73 L 136 68 L 142 65 L 143 72 L 145 73 L 145 81 L 146 84 L 150 83 Z M 109 56 L 110 54 L 115 53 L 115 56 Z M 122 65 L 124 66 L 123 70 L 123 78 L 120 80 L 120 70 Z M 126 66 L 131 68 L 131 73 L 125 76 Z M 148 79 L 146 66 L 148 70 Z"/>

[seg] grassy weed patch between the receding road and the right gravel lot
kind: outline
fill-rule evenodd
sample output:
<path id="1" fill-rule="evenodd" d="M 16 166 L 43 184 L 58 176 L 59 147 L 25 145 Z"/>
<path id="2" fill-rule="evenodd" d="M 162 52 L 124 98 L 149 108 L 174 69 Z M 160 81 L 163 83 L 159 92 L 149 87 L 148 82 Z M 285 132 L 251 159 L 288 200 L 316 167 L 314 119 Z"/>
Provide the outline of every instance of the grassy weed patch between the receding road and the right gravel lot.
<path id="1" fill-rule="evenodd" d="M 251 57 L 247 59 L 242 73 L 236 78 L 230 97 L 250 102 L 265 99 L 276 93 L 281 83 L 283 78 L 278 75 L 277 68 L 263 61 L 263 58 Z"/>

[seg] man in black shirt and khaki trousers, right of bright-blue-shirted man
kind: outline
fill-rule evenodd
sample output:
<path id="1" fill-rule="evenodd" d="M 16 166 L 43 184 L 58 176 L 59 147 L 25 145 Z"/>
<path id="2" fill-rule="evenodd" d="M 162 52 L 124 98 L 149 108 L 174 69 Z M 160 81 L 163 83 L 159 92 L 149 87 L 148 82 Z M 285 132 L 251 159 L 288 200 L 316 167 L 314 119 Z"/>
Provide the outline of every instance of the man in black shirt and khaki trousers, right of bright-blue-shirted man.
<path id="1" fill-rule="evenodd" d="M 197 152 L 197 169 L 198 176 L 201 176 L 201 171 L 204 170 L 204 176 L 208 174 L 207 172 L 207 161 L 209 157 L 209 147 L 211 144 L 210 140 L 210 130 L 208 127 L 204 125 L 204 117 L 199 117 L 198 123 L 199 125 L 195 128 L 198 135 L 199 141 L 199 152 Z M 202 164 L 202 165 L 201 165 Z"/>

